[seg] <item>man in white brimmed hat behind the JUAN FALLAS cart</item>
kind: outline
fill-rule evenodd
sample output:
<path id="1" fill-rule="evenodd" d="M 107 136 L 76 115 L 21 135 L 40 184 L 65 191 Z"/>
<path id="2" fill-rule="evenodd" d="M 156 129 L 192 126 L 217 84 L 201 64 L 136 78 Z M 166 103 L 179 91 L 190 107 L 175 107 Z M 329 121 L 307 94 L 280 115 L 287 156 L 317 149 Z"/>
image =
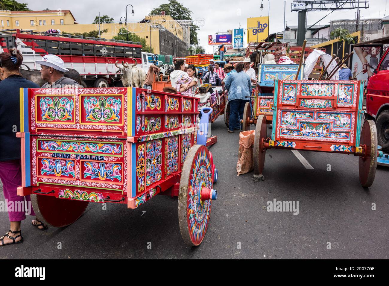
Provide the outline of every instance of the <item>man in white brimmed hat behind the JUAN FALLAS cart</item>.
<path id="1" fill-rule="evenodd" d="M 74 79 L 65 77 L 64 72 L 69 70 L 65 68 L 63 60 L 54 55 L 47 54 L 41 61 L 36 61 L 40 65 L 40 76 L 47 81 L 42 88 L 63 88 L 65 86 L 77 86 L 79 84 Z"/>

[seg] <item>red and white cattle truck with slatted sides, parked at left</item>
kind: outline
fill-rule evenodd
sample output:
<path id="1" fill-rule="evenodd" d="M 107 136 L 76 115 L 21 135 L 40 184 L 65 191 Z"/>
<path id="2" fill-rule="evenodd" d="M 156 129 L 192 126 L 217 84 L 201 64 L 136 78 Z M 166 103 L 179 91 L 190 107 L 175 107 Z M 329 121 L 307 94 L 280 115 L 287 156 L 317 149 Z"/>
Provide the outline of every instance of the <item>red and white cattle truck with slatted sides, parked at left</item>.
<path id="1" fill-rule="evenodd" d="M 0 31 L 0 53 L 8 52 L 12 47 L 21 51 L 23 63 L 32 70 L 40 70 L 35 61 L 46 54 L 59 56 L 65 67 L 80 73 L 84 87 L 122 86 L 116 61 L 121 67 L 122 61 L 132 64 L 136 59 L 137 67 L 146 73 L 150 65 L 156 65 L 151 53 L 142 52 L 140 43 L 94 37 L 60 37 L 59 34 L 19 29 Z"/>

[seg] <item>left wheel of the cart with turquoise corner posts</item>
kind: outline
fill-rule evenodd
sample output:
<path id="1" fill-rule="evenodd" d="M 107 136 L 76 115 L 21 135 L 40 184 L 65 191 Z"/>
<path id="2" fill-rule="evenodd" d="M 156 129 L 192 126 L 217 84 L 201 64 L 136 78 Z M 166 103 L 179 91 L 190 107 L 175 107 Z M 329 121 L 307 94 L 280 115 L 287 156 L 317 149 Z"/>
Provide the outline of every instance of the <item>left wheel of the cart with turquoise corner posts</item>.
<path id="1" fill-rule="evenodd" d="M 266 149 L 262 147 L 262 142 L 266 140 L 266 117 L 259 115 L 254 135 L 254 174 L 261 175 L 265 165 Z M 261 145 L 261 146 L 260 146 Z"/>

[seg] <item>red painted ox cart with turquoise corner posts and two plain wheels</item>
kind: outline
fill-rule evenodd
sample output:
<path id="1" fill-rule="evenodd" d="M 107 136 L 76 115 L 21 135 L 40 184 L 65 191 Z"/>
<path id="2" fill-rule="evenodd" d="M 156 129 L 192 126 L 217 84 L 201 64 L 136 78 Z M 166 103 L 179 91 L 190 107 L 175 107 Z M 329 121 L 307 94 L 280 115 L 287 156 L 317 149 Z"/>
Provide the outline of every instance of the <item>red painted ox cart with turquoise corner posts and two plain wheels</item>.
<path id="1" fill-rule="evenodd" d="M 359 156 L 359 180 L 370 187 L 377 168 L 374 122 L 362 125 L 363 81 L 275 81 L 272 137 L 259 115 L 254 138 L 254 179 L 266 149 L 320 151 Z"/>

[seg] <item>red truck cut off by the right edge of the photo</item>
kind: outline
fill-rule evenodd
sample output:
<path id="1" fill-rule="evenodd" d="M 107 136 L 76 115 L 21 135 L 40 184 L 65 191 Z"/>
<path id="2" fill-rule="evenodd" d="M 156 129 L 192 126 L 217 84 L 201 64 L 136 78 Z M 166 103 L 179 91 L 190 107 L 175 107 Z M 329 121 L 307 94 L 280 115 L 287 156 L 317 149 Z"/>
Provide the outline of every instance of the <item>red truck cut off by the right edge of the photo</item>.
<path id="1" fill-rule="evenodd" d="M 378 145 L 389 152 L 389 49 L 381 58 L 366 89 L 366 111 L 375 120 Z"/>

